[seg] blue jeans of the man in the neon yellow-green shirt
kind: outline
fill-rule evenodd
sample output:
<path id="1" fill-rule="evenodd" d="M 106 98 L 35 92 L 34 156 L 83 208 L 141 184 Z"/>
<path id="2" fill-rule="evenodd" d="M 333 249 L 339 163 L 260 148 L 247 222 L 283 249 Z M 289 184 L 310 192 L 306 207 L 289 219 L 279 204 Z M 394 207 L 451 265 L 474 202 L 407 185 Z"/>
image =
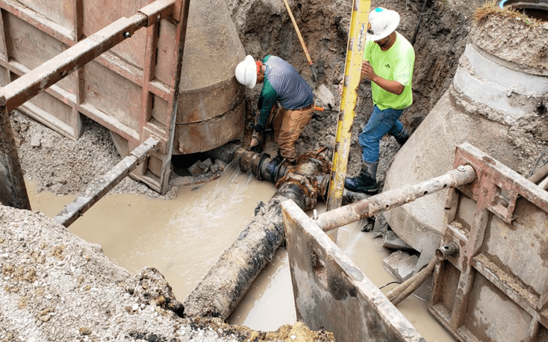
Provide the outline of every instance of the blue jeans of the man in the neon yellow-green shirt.
<path id="1" fill-rule="evenodd" d="M 385 134 L 396 136 L 403 131 L 403 124 L 398 118 L 404 109 L 386 108 L 381 111 L 376 105 L 367 125 L 359 134 L 359 144 L 363 148 L 362 160 L 375 163 L 379 160 L 379 142 Z"/>

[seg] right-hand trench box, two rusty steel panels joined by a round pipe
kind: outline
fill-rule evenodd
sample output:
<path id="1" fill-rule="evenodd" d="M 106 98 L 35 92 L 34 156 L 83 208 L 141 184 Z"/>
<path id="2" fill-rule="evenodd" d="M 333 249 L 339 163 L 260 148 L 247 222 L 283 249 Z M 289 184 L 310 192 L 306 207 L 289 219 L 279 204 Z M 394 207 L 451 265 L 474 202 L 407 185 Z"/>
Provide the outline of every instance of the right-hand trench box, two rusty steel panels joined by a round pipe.
<path id="1" fill-rule="evenodd" d="M 338 341 L 424 341 L 324 231 L 449 187 L 441 245 L 459 251 L 436 264 L 429 311 L 461 341 L 548 340 L 548 193 L 469 143 L 454 167 L 317 219 L 283 202 L 299 320 Z"/>

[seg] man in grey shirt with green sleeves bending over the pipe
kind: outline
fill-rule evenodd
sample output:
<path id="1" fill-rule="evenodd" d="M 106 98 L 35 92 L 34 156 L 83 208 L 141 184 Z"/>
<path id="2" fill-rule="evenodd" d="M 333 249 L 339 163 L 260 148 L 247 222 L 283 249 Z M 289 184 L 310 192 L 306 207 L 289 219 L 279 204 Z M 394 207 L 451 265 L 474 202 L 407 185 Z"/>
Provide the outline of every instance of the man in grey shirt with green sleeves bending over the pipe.
<path id="1" fill-rule="evenodd" d="M 262 136 L 272 124 L 278 144 L 278 161 L 295 164 L 295 142 L 314 113 L 312 89 L 296 69 L 280 57 L 268 55 L 262 61 L 246 56 L 236 67 L 239 83 L 253 89 L 262 83 L 250 147 L 261 152 Z"/>

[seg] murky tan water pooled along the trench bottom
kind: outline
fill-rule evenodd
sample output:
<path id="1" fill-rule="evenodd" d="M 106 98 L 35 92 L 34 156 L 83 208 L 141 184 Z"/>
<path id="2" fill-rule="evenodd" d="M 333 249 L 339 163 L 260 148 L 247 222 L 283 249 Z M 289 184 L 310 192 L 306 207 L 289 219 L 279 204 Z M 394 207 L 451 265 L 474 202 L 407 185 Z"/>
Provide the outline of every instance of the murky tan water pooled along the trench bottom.
<path id="1" fill-rule="evenodd" d="M 27 183 L 32 210 L 49 217 L 76 197 L 36 194 L 35 188 L 34 183 Z M 256 203 L 268 201 L 275 191 L 273 184 L 232 168 L 215 181 L 180 188 L 177 198 L 170 201 L 108 195 L 73 223 L 70 230 L 100 244 L 113 262 L 132 274 L 145 266 L 157 268 L 182 302 L 253 219 Z M 317 206 L 318 212 L 324 208 L 323 204 Z M 339 229 L 338 245 L 376 286 L 383 286 L 394 280 L 382 263 L 388 252 L 381 239 L 362 233 L 361 227 L 357 223 Z M 411 296 L 398 309 L 427 341 L 455 341 L 427 313 L 426 306 L 426 302 Z M 287 252 L 278 250 L 229 317 L 229 323 L 273 331 L 295 321 Z"/>

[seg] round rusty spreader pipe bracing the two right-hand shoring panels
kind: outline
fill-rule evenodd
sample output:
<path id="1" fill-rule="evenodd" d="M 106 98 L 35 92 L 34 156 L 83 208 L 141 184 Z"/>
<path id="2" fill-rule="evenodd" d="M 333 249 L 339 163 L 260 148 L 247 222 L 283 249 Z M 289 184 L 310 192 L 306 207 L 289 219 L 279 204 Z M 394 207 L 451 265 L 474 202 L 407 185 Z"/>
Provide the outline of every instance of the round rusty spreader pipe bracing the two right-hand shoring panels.
<path id="1" fill-rule="evenodd" d="M 323 231 L 329 231 L 360 219 L 371 217 L 391 208 L 412 202 L 427 194 L 447 188 L 471 183 L 476 172 L 470 165 L 461 165 L 442 176 L 427 181 L 371 196 L 367 199 L 339 207 L 318 215 L 316 224 Z"/>

